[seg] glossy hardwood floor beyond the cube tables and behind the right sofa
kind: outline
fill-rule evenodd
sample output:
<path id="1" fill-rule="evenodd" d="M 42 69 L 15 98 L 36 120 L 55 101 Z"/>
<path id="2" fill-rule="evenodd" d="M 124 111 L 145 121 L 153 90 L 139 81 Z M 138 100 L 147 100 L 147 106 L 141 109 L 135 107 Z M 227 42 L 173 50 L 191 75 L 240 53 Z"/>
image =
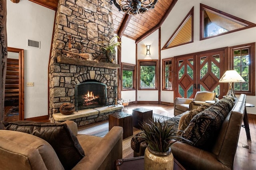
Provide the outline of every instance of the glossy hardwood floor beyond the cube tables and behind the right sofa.
<path id="1" fill-rule="evenodd" d="M 124 107 L 123 111 L 132 113 L 132 109 L 144 107 L 153 110 L 153 114 L 174 117 L 174 107 L 158 104 L 132 104 Z M 240 131 L 236 156 L 234 160 L 234 170 L 255 170 L 256 169 L 256 118 L 248 118 L 251 141 L 247 141 L 245 129 Z M 248 146 L 249 149 L 243 146 Z"/>

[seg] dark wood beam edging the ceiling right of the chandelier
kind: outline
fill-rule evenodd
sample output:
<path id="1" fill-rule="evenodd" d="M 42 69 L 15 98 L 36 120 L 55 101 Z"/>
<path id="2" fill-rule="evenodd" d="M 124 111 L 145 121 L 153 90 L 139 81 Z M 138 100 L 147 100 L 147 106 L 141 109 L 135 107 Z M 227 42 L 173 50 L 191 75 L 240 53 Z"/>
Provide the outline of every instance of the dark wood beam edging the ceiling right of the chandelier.
<path id="1" fill-rule="evenodd" d="M 174 7 L 174 5 L 176 4 L 178 0 L 173 0 L 172 4 L 170 5 L 170 7 L 168 8 L 168 10 L 166 11 L 166 13 L 164 14 L 163 18 L 160 20 L 160 22 L 154 26 L 152 29 L 150 29 L 148 32 L 146 32 L 144 35 L 140 36 L 135 43 L 138 44 L 140 41 L 142 41 L 143 39 L 145 39 L 146 37 L 148 37 L 148 35 L 152 34 L 154 31 L 156 31 L 157 29 L 159 29 L 162 24 L 164 23 L 164 20 L 168 17 L 168 15 L 170 14 L 172 8 Z"/>

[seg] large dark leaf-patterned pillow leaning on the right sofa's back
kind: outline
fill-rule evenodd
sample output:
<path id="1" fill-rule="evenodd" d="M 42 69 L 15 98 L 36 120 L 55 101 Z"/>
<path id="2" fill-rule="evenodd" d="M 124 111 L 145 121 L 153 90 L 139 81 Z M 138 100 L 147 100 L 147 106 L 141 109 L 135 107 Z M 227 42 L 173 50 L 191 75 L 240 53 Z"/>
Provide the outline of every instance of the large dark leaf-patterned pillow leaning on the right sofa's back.
<path id="1" fill-rule="evenodd" d="M 219 100 L 216 104 L 195 115 L 181 136 L 192 141 L 193 145 L 198 148 L 210 149 L 232 107 L 232 98 Z"/>

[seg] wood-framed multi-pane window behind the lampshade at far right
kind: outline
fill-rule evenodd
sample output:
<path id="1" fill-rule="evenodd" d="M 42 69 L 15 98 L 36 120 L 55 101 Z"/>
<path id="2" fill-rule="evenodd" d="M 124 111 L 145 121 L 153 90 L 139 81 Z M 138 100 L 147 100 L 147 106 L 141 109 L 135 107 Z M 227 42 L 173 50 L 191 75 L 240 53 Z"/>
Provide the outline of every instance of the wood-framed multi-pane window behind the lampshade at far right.
<path id="1" fill-rule="evenodd" d="M 245 82 L 234 83 L 236 94 L 255 95 L 255 43 L 230 47 L 232 69 Z"/>

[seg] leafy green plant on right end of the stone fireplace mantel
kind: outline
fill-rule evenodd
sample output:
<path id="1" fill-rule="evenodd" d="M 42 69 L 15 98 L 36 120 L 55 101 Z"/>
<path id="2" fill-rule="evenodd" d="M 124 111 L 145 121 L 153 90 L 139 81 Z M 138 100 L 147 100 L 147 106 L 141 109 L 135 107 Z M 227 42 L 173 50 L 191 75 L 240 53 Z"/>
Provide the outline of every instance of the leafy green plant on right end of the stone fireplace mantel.
<path id="1" fill-rule="evenodd" d="M 122 42 L 116 42 L 115 38 L 119 38 L 117 35 L 114 36 L 110 41 L 108 42 L 108 45 L 104 45 L 101 47 L 102 53 L 106 55 L 106 62 L 107 63 L 113 63 L 114 61 L 114 55 L 116 54 L 116 47 L 118 48 L 121 46 Z"/>

